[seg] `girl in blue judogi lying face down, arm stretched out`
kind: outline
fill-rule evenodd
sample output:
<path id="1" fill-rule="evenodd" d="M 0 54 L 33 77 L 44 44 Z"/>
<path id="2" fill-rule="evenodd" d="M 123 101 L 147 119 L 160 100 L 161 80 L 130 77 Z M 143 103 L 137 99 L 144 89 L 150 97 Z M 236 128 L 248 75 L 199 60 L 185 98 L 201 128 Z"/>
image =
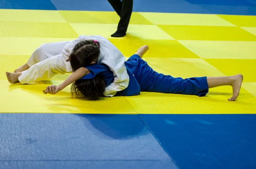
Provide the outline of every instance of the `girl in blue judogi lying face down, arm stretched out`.
<path id="1" fill-rule="evenodd" d="M 126 62 L 125 67 L 129 75 L 129 85 L 125 90 L 119 91 L 115 96 L 135 96 L 143 92 L 173 93 L 184 95 L 205 96 L 209 88 L 230 85 L 233 95 L 229 101 L 236 101 L 239 96 L 243 76 L 223 77 L 193 77 L 175 78 L 154 71 L 142 57 L 148 51 L 148 46 L 141 47 Z M 44 93 L 55 94 L 67 85 L 73 83 L 72 93 L 78 98 L 97 100 L 104 96 L 105 87 L 114 81 L 113 72 L 107 65 L 90 65 L 79 68 L 76 74 L 70 76 L 61 85 L 48 86 Z"/>

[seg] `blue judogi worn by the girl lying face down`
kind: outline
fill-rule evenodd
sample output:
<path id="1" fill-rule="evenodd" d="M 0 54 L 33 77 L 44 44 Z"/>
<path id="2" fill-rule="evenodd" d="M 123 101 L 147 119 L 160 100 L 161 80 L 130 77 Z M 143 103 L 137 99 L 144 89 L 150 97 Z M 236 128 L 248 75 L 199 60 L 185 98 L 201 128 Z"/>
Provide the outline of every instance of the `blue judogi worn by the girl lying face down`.
<path id="1" fill-rule="evenodd" d="M 118 96 L 135 96 L 140 91 L 205 96 L 209 91 L 207 77 L 182 79 L 166 76 L 154 71 L 135 54 L 125 62 L 125 67 L 130 78 L 129 85 L 125 90 L 117 92 Z M 92 79 L 100 74 L 104 76 L 106 86 L 114 80 L 113 72 L 106 65 L 90 65 L 85 68 L 91 73 L 81 79 Z"/>

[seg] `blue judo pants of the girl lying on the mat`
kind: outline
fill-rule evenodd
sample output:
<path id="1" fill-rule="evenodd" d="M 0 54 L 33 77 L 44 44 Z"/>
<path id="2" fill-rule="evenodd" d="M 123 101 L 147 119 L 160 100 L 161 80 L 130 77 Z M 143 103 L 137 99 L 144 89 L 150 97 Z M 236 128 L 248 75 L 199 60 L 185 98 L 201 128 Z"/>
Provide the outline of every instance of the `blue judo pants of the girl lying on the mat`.
<path id="1" fill-rule="evenodd" d="M 134 77 L 140 85 L 140 90 L 145 92 L 173 93 L 184 95 L 205 96 L 208 91 L 207 77 L 175 78 L 154 71 L 138 55 L 131 56 L 127 62 L 131 62 Z M 134 66 L 136 64 L 136 66 Z"/>

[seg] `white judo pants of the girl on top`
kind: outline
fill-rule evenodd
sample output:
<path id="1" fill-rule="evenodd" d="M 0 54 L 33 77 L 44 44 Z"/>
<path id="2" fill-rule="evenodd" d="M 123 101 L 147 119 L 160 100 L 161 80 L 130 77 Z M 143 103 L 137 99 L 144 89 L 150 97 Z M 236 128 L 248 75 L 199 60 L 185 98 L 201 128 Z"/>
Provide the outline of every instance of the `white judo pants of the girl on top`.
<path id="1" fill-rule="evenodd" d="M 72 73 L 70 62 L 62 55 L 67 42 L 53 42 L 41 45 L 30 56 L 27 65 L 29 69 L 18 78 L 21 84 L 34 83 L 51 79 L 56 74 Z"/>

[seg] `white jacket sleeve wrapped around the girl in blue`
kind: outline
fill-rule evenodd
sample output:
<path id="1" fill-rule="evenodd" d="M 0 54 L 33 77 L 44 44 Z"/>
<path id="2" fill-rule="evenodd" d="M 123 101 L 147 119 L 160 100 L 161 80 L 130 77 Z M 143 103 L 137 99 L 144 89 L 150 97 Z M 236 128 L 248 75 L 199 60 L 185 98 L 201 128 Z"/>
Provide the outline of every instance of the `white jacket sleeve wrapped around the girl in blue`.
<path id="1" fill-rule="evenodd" d="M 111 59 L 105 56 L 102 63 L 108 65 L 108 67 L 113 71 L 115 78 L 113 83 L 105 88 L 104 95 L 112 97 L 116 92 L 128 87 L 129 76 L 125 67 L 125 57 L 115 46 L 108 51 L 108 56 L 111 57 Z"/>

